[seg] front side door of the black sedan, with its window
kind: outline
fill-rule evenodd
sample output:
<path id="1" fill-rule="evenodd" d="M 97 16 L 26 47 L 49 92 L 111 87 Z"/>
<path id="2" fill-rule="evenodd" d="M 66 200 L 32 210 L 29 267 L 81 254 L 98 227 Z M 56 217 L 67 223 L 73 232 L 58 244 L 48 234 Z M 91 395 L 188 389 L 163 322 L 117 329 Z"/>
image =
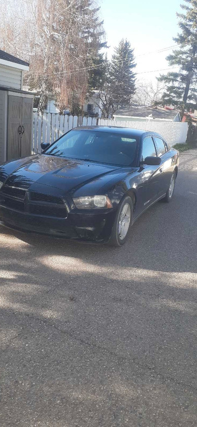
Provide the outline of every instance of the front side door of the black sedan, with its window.
<path id="1" fill-rule="evenodd" d="M 142 142 L 142 161 L 148 156 L 157 156 L 156 146 L 152 136 L 147 136 Z M 158 192 L 161 188 L 163 173 L 163 164 L 160 165 L 143 165 L 144 177 L 144 208 L 151 205 L 158 198 Z"/>

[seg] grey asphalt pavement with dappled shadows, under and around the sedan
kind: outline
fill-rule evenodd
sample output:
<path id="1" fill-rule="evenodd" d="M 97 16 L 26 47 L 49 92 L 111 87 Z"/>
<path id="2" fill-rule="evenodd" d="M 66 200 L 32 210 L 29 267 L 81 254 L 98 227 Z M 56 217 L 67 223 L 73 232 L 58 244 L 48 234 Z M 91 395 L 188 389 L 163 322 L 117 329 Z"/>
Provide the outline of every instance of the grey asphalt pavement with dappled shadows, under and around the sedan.
<path id="1" fill-rule="evenodd" d="M 0 426 L 197 426 L 197 150 L 122 248 L 0 228 Z"/>

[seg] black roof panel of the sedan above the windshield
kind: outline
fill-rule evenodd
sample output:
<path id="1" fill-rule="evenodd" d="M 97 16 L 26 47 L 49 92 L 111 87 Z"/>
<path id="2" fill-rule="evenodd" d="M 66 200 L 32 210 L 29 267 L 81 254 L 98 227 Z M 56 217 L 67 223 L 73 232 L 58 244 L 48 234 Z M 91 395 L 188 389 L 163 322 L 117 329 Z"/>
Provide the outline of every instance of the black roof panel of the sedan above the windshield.
<path id="1" fill-rule="evenodd" d="M 160 136 L 159 133 L 147 131 L 144 129 L 134 129 L 132 127 L 122 126 L 78 126 L 71 130 L 94 130 L 96 132 L 113 132 L 117 134 L 128 135 L 132 137 L 141 137 L 142 135 L 155 135 Z"/>

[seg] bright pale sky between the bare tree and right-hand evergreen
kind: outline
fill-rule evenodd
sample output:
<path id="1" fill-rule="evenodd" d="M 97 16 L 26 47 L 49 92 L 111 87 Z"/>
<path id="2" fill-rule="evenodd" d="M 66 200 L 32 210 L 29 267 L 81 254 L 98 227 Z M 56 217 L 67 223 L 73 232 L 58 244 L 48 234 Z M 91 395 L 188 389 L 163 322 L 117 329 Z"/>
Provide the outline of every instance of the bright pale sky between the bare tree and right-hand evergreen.
<path id="1" fill-rule="evenodd" d="M 104 20 L 106 40 L 113 53 L 120 39 L 128 39 L 134 48 L 138 79 L 155 81 L 160 72 L 169 67 L 166 61 L 169 49 L 154 52 L 175 44 L 173 37 L 179 31 L 176 12 L 182 11 L 183 0 L 100 0 L 100 16 Z M 154 53 L 149 53 L 154 52 Z M 167 73 L 162 71 L 161 73 Z"/>

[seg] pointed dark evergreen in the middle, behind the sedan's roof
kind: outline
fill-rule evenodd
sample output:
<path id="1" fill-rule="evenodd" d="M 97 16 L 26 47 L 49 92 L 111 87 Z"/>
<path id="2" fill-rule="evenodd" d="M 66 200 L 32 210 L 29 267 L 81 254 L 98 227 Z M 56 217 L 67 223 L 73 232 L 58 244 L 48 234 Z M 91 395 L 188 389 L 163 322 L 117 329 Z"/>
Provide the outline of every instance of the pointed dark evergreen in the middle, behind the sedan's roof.
<path id="1" fill-rule="evenodd" d="M 122 39 L 115 47 L 111 61 L 111 99 L 115 109 L 130 104 L 135 92 L 135 74 L 133 49 L 129 41 Z"/>

